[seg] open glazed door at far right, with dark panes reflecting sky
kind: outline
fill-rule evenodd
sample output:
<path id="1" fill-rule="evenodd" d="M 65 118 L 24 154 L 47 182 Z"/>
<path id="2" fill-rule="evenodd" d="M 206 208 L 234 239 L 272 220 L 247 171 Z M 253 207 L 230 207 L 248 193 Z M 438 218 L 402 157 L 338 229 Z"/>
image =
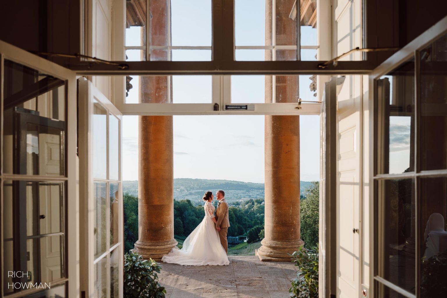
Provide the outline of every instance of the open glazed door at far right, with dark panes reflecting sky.
<path id="1" fill-rule="evenodd" d="M 447 290 L 447 17 L 370 76 L 373 297 Z"/>

